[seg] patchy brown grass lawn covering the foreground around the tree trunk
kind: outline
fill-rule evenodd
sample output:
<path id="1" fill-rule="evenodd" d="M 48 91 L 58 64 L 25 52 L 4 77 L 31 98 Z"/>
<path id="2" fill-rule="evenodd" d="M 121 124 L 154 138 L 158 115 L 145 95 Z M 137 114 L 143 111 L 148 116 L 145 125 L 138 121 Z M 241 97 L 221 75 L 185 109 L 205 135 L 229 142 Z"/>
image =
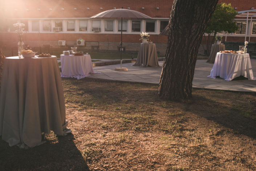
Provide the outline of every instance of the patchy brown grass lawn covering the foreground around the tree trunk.
<path id="1" fill-rule="evenodd" d="M 0 140 L 0 170 L 256 170 L 256 95 L 62 78 L 73 133 L 28 150 Z"/>

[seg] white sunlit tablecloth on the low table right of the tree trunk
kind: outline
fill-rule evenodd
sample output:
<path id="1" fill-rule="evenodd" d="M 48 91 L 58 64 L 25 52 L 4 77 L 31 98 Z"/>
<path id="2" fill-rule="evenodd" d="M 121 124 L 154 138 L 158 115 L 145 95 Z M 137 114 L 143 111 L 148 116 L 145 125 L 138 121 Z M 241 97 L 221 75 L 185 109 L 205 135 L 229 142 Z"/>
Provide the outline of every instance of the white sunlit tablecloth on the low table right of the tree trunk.
<path id="1" fill-rule="evenodd" d="M 224 78 L 225 81 L 244 76 L 249 80 L 256 80 L 253 77 L 252 65 L 249 54 L 217 53 L 211 74 L 208 77 Z"/>

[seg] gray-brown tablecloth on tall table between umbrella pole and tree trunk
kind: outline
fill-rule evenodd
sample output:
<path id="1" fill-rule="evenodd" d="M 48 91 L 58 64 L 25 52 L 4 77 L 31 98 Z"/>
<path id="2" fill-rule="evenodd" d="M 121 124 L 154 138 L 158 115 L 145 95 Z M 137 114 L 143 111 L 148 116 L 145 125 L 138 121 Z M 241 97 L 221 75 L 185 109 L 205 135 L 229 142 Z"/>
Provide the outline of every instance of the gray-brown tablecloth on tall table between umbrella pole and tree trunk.
<path id="1" fill-rule="evenodd" d="M 157 58 L 157 48 L 155 47 L 155 44 L 141 43 L 141 45 L 139 46 L 137 61 L 133 66 L 159 66 Z"/>

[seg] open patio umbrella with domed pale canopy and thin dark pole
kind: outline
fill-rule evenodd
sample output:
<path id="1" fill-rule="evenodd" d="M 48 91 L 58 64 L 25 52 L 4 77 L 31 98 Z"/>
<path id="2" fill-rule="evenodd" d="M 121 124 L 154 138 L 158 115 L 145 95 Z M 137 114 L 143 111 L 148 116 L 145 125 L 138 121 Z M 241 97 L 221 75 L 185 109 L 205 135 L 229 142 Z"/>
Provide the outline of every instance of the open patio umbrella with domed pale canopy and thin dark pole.
<path id="1" fill-rule="evenodd" d="M 122 68 L 122 34 L 123 34 L 123 19 L 126 20 L 145 20 L 145 19 L 152 19 L 150 16 L 147 16 L 141 12 L 133 11 L 130 9 L 111 9 L 108 11 L 103 11 L 98 13 L 95 16 L 91 17 L 92 19 L 121 19 L 121 42 L 120 42 L 120 51 L 121 51 L 121 68 Z"/>

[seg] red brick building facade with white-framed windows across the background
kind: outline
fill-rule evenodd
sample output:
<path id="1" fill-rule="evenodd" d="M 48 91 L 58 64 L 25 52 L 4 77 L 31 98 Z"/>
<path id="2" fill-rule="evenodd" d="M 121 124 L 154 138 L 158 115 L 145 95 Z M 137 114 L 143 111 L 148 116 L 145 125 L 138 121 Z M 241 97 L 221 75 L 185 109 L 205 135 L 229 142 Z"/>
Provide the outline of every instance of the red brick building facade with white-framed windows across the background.
<path id="1" fill-rule="evenodd" d="M 236 11 L 249 10 L 254 6 L 256 8 L 255 0 L 219 1 L 222 2 L 231 3 L 232 7 L 236 7 Z M 172 3 L 172 0 L 2 0 L 0 44 L 7 47 L 16 44 L 18 37 L 12 24 L 20 22 L 25 24 L 26 29 L 23 40 L 25 44 L 31 46 L 50 44 L 53 48 L 63 48 L 80 46 L 77 40 L 84 40 L 83 48 L 90 49 L 93 42 L 96 42 L 99 49 L 117 49 L 121 39 L 120 21 L 96 20 L 90 17 L 106 10 L 123 7 L 142 12 L 154 19 L 125 20 L 123 46 L 127 50 L 137 50 L 141 42 L 139 33 L 149 32 L 150 40 L 155 42 L 157 50 L 164 54 L 167 36 L 159 33 L 168 24 Z M 236 17 L 236 20 L 241 23 L 243 30 L 240 33 L 222 34 L 225 41 L 244 41 L 246 17 Z M 247 30 L 250 41 L 256 42 L 256 19 L 249 24 L 251 28 L 248 27 Z M 60 40 L 63 44 L 60 44 Z M 202 49 L 200 53 L 203 53 Z"/>

